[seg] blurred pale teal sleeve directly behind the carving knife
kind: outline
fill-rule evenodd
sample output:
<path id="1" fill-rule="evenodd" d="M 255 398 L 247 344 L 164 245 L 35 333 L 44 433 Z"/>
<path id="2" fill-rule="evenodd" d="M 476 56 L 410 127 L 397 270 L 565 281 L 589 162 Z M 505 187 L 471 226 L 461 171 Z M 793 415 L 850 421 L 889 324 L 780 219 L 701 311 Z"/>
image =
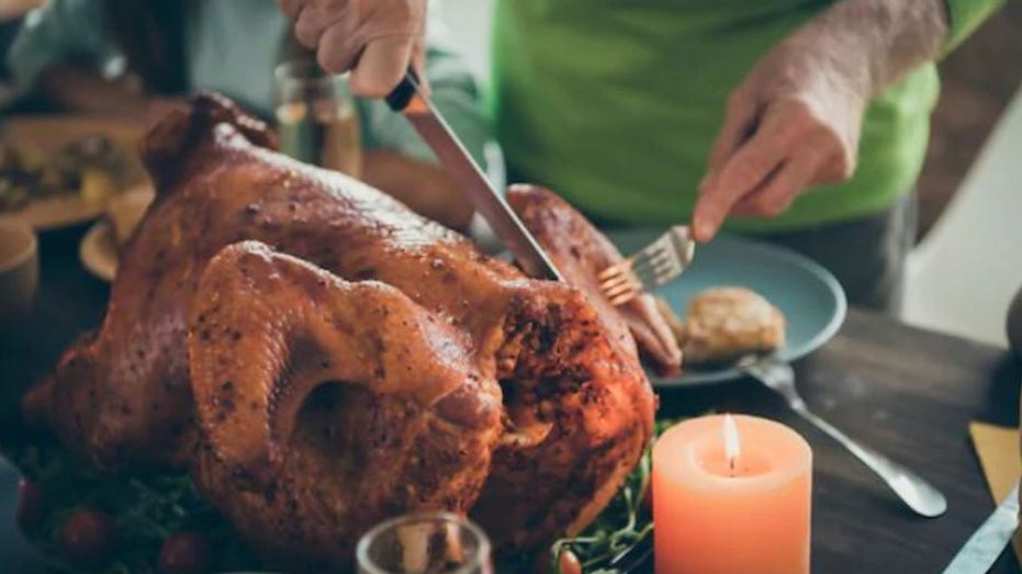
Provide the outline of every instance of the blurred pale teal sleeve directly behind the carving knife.
<path id="1" fill-rule="evenodd" d="M 426 76 L 431 99 L 465 148 L 485 167 L 484 148 L 491 139 L 479 85 L 461 57 L 443 42 L 440 22 L 429 22 Z M 388 148 L 408 157 L 436 161 L 433 151 L 401 114 L 382 100 L 360 100 L 362 142 L 367 149 Z"/>

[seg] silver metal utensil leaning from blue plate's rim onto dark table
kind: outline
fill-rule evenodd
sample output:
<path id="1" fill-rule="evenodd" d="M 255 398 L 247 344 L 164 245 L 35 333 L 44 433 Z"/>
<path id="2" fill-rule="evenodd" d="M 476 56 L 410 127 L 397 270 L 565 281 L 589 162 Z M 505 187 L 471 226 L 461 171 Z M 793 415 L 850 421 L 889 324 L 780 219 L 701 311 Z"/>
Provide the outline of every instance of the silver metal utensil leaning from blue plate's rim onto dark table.
<path id="1" fill-rule="evenodd" d="M 791 365 L 771 358 L 745 357 L 739 361 L 738 367 L 745 374 L 784 397 L 791 410 L 800 417 L 849 449 L 855 458 L 884 479 L 887 485 L 917 514 L 926 518 L 936 518 L 947 510 L 947 500 L 944 495 L 929 482 L 879 452 L 852 440 L 830 423 L 812 414 L 795 387 L 795 370 Z"/>

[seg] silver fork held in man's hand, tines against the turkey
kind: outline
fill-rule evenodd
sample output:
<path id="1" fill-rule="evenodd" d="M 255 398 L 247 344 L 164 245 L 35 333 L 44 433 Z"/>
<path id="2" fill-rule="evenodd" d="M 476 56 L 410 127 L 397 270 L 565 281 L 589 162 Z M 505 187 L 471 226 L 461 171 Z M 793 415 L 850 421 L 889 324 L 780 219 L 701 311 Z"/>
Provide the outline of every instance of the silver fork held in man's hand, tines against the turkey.
<path id="1" fill-rule="evenodd" d="M 611 305 L 624 305 L 645 291 L 673 281 L 692 263 L 696 243 L 675 225 L 642 249 L 599 272 L 599 289 Z"/>

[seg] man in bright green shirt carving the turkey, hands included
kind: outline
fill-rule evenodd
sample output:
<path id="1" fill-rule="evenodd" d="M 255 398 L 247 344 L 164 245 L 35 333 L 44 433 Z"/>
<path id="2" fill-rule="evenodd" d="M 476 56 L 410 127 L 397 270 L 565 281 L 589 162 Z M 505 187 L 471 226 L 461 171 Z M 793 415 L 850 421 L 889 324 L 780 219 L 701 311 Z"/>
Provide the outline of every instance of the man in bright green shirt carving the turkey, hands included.
<path id="1" fill-rule="evenodd" d="M 360 94 L 385 94 L 422 53 L 427 0 L 279 2 Z M 690 220 L 706 241 L 727 220 L 822 263 L 852 303 L 896 311 L 933 63 L 1000 3 L 496 0 L 498 140 L 512 179 L 599 224 Z"/>

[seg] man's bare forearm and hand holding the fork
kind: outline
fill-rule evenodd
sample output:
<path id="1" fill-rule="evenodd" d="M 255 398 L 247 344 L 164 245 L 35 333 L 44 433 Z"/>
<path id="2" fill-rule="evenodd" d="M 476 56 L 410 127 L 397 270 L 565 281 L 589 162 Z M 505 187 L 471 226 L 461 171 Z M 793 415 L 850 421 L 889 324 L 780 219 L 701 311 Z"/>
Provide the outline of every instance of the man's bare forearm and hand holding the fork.
<path id="1" fill-rule="evenodd" d="M 780 42 L 728 101 L 693 216 L 696 238 L 711 238 L 729 214 L 776 215 L 805 189 L 849 179 L 869 98 L 939 57 L 1001 1 L 842 0 Z"/>

